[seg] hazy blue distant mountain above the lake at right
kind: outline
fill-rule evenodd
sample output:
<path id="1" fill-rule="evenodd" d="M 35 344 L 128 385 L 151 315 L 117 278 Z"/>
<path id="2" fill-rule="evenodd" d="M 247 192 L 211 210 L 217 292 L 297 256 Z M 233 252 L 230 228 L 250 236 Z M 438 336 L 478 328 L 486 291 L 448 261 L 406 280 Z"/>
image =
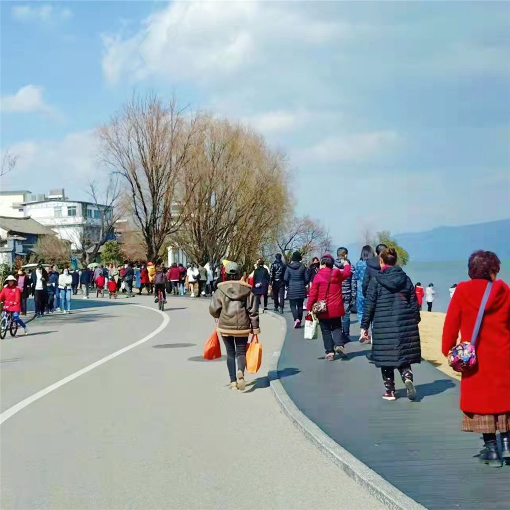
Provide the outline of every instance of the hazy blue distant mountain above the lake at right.
<path id="1" fill-rule="evenodd" d="M 466 260 L 477 249 L 510 259 L 510 218 L 475 225 L 440 226 L 427 232 L 395 235 L 413 262 Z"/>

